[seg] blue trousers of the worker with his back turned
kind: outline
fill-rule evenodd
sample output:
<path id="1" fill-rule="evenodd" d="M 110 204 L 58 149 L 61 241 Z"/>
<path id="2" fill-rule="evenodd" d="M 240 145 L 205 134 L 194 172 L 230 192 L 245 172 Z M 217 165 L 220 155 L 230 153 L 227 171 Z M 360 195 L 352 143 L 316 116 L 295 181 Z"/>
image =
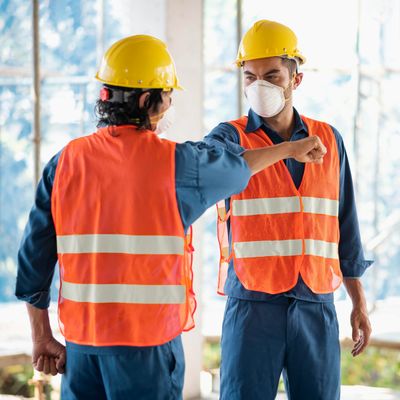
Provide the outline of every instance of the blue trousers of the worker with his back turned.
<path id="1" fill-rule="evenodd" d="M 180 336 L 162 346 L 127 348 L 122 354 L 85 354 L 67 344 L 61 399 L 180 400 L 184 370 Z"/>

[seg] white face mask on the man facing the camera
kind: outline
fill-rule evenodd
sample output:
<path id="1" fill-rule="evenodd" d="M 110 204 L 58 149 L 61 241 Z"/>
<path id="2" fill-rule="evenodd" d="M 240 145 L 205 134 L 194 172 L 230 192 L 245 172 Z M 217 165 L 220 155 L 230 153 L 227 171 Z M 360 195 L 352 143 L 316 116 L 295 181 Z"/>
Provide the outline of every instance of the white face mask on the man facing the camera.
<path id="1" fill-rule="evenodd" d="M 253 111 L 264 118 L 279 114 L 285 107 L 285 89 L 268 81 L 256 80 L 244 93 Z"/>

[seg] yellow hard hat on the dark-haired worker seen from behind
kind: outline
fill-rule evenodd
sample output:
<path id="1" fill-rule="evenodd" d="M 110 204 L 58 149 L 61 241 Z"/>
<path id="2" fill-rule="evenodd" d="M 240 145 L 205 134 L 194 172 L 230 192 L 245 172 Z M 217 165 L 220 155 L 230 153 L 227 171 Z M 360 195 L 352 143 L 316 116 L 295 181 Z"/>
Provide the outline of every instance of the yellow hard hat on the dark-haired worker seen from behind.
<path id="1" fill-rule="evenodd" d="M 115 42 L 104 54 L 96 79 L 128 88 L 183 89 L 166 44 L 149 35 Z"/>

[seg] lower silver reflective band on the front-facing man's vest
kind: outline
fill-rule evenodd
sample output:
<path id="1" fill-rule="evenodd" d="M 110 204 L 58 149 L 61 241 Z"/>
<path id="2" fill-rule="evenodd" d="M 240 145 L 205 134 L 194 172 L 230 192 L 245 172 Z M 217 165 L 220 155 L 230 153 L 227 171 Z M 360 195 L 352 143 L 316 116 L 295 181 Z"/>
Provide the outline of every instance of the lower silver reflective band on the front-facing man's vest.
<path id="1" fill-rule="evenodd" d="M 337 243 L 322 240 L 305 240 L 306 255 L 338 259 Z M 302 241 L 259 240 L 255 242 L 236 242 L 233 244 L 236 258 L 301 256 Z"/>

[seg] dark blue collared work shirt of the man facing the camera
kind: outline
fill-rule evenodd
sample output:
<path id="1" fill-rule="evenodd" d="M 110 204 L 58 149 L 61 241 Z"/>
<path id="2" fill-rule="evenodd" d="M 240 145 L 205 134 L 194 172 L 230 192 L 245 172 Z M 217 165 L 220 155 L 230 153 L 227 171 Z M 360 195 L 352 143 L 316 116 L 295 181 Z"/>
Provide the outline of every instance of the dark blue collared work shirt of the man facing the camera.
<path id="1" fill-rule="evenodd" d="M 290 141 L 304 139 L 308 136 L 307 126 L 300 118 L 299 113 L 294 111 L 294 128 Z M 249 110 L 246 133 L 254 132 L 262 129 L 271 139 L 272 143 L 282 143 L 284 140 L 274 130 L 272 130 L 264 120 L 257 115 L 252 109 Z M 345 278 L 359 278 L 364 271 L 372 264 L 372 261 L 364 259 L 364 253 L 361 246 L 360 229 L 358 225 L 357 210 L 354 198 L 353 181 L 351 178 L 349 161 L 344 147 L 343 139 L 339 132 L 332 127 L 336 138 L 339 161 L 340 161 L 340 187 L 339 187 L 339 259 L 340 268 Z M 240 146 L 239 134 L 236 128 L 227 123 L 221 123 L 215 127 L 205 138 L 204 141 L 210 145 L 219 145 L 232 152 L 241 154 L 244 149 Z M 298 162 L 293 158 L 285 160 L 285 164 L 292 176 L 293 182 L 299 188 L 304 173 L 304 163 Z M 273 182 L 271 182 L 273 185 Z M 229 209 L 229 200 L 226 202 Z M 229 227 L 229 221 L 228 221 Z M 230 236 L 229 236 L 230 237 Z M 236 297 L 244 300 L 268 301 L 276 300 L 280 296 L 294 297 L 299 300 L 316 301 L 316 302 L 332 302 L 333 293 L 315 294 L 304 283 L 299 275 L 296 286 L 288 292 L 282 294 L 267 294 L 247 290 L 239 281 L 233 261 L 229 263 L 228 277 L 225 283 L 225 293 L 228 296 Z"/>

